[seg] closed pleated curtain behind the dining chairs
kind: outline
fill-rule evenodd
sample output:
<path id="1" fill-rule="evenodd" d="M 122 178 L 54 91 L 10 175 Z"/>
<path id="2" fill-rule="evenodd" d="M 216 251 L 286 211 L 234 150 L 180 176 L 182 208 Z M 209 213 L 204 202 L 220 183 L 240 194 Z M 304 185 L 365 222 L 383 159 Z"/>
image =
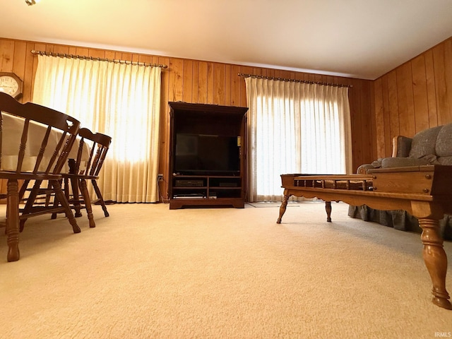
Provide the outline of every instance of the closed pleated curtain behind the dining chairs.
<path id="1" fill-rule="evenodd" d="M 33 102 L 112 136 L 98 182 L 104 200 L 158 201 L 160 67 L 38 58 Z"/>

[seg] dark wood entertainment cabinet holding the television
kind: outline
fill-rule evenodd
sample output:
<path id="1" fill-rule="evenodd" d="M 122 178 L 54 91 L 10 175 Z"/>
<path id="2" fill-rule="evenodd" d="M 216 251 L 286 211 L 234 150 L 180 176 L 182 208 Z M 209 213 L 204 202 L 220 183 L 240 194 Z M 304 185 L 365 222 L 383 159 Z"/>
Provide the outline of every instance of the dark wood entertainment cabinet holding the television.
<path id="1" fill-rule="evenodd" d="M 169 107 L 169 209 L 244 208 L 248 108 L 186 102 Z"/>

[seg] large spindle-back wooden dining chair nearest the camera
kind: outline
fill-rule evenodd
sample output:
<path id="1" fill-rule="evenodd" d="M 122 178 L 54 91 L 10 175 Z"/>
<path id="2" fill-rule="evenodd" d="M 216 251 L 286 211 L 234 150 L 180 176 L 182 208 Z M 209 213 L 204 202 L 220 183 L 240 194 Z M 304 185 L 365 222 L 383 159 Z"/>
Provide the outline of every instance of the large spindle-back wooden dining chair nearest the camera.
<path id="1" fill-rule="evenodd" d="M 11 122 L 11 125 L 9 124 Z M 6 179 L 6 234 L 8 261 L 17 261 L 20 222 L 51 210 L 34 208 L 20 213 L 18 181 L 35 182 L 39 188 L 48 181 L 61 202 L 54 212 L 64 212 L 74 233 L 80 232 L 69 203 L 61 189 L 61 169 L 76 140 L 80 121 L 64 113 L 27 102 L 21 104 L 0 93 L 0 179 Z M 34 192 L 28 202 L 32 205 Z"/>

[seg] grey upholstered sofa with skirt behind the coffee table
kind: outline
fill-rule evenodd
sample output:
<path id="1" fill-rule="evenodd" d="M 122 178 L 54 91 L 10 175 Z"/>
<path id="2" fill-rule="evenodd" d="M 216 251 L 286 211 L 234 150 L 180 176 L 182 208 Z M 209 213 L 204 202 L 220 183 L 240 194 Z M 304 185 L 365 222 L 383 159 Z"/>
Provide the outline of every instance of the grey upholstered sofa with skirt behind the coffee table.
<path id="1" fill-rule="evenodd" d="M 361 165 L 357 173 L 365 174 L 373 168 L 418 165 L 452 165 L 452 124 L 425 129 L 412 138 L 394 137 L 392 157 Z M 350 206 L 348 215 L 365 221 L 379 222 L 397 230 L 422 231 L 417 219 L 404 210 L 374 210 L 368 206 Z M 439 225 L 444 239 L 452 240 L 452 215 L 444 215 Z"/>

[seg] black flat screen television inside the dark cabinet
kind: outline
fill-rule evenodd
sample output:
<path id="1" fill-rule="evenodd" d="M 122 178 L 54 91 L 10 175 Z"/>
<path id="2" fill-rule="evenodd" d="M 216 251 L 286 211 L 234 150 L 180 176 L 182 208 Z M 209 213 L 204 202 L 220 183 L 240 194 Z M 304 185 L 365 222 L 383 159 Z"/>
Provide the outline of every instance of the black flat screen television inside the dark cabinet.
<path id="1" fill-rule="evenodd" d="M 174 173 L 181 175 L 238 175 L 237 136 L 177 133 Z"/>

